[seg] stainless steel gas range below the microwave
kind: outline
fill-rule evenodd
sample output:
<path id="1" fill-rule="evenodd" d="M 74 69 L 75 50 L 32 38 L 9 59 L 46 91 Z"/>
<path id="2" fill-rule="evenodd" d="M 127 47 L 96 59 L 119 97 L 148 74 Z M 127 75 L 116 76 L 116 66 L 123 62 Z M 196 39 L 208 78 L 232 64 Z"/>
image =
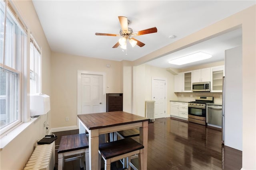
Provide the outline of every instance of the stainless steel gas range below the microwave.
<path id="1" fill-rule="evenodd" d="M 213 103 L 213 97 L 196 96 L 195 99 L 188 102 L 188 121 L 206 125 L 206 103 Z"/>

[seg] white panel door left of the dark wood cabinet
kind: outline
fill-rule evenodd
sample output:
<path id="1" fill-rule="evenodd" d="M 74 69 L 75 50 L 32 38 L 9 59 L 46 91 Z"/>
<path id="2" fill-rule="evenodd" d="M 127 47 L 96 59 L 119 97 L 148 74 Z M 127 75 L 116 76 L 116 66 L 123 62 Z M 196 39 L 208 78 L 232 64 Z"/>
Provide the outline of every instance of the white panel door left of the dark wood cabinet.
<path id="1" fill-rule="evenodd" d="M 103 112 L 102 75 L 81 74 L 82 113 Z"/>

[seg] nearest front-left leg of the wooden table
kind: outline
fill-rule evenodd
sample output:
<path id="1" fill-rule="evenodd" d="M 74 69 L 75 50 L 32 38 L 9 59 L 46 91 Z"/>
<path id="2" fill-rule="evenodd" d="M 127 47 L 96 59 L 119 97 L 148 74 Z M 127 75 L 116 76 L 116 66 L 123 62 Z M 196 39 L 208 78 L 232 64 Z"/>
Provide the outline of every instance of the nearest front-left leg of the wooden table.
<path id="1" fill-rule="evenodd" d="M 89 130 L 90 170 L 98 170 L 99 130 Z"/>

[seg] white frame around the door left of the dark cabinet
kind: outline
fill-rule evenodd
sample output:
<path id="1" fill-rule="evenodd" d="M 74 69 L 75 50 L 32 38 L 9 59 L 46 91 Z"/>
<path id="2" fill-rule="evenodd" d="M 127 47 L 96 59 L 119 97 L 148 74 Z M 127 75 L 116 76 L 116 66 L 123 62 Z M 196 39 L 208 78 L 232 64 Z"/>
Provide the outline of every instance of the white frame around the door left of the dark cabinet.
<path id="1" fill-rule="evenodd" d="M 90 75 L 100 75 L 102 76 L 102 107 L 103 112 L 106 112 L 106 73 L 105 72 L 94 72 L 87 70 L 77 70 L 77 115 L 82 112 L 82 89 L 81 89 L 81 75 L 90 74 Z"/>

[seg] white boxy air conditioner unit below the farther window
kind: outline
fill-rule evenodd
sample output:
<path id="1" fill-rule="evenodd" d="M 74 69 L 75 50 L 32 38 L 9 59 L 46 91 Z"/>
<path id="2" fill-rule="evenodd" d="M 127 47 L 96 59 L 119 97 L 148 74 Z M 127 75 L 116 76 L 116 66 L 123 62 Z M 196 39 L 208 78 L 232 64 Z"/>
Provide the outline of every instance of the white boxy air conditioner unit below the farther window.
<path id="1" fill-rule="evenodd" d="M 30 95 L 30 117 L 44 115 L 50 111 L 50 96 L 46 94 Z"/>

